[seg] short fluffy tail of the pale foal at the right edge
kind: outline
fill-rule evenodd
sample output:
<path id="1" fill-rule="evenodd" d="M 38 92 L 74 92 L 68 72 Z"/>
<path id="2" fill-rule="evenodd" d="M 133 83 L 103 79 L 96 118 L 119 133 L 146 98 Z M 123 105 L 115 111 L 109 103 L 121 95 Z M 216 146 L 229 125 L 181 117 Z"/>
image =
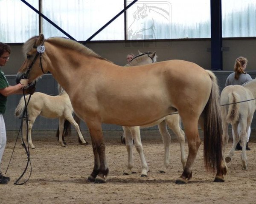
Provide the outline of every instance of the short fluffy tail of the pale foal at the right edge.
<path id="1" fill-rule="evenodd" d="M 233 123 L 234 121 L 238 121 L 239 119 L 239 95 L 231 92 L 228 94 L 228 111 L 226 121 L 228 123 Z"/>

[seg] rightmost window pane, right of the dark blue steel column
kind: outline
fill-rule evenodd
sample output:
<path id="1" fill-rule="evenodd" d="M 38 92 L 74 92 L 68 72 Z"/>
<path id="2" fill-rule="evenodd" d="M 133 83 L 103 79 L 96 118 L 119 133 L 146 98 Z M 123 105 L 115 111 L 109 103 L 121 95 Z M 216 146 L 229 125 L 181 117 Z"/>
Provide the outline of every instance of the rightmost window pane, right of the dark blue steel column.
<path id="1" fill-rule="evenodd" d="M 222 0 L 222 37 L 256 37 L 256 1 Z"/>

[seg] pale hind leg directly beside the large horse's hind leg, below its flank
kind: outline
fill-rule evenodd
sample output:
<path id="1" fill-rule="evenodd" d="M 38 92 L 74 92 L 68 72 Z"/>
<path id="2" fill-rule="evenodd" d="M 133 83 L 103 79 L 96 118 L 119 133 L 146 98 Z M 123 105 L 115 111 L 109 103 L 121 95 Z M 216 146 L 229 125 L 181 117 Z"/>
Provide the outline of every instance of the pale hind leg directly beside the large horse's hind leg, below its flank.
<path id="1" fill-rule="evenodd" d="M 186 156 L 185 156 L 185 133 L 180 128 L 180 116 L 178 114 L 176 115 L 170 115 L 166 116 L 166 123 L 167 125 L 172 129 L 172 131 L 177 136 L 177 140 L 180 143 L 180 160 L 183 167 L 183 170 L 186 165 Z"/>

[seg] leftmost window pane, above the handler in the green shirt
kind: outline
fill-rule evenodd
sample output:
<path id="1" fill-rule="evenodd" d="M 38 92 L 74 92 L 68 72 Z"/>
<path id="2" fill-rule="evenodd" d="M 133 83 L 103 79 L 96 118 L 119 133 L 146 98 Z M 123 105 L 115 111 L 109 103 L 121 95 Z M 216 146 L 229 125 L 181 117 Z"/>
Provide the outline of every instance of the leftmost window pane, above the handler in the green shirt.
<path id="1" fill-rule="evenodd" d="M 38 9 L 38 0 L 27 0 Z M 25 42 L 38 35 L 38 14 L 20 0 L 0 0 L 0 41 Z"/>

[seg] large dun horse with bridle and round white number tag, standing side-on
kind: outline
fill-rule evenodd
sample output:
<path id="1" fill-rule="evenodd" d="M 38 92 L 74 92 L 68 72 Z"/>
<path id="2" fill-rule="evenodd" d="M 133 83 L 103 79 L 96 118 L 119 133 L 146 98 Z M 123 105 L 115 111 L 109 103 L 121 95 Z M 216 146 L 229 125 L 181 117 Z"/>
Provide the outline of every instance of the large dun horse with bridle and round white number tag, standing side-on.
<path id="1" fill-rule="evenodd" d="M 204 161 L 217 170 L 215 181 L 224 181 L 227 166 L 222 158 L 219 88 L 211 71 L 192 62 L 169 60 L 124 68 L 100 57 L 73 40 L 41 34 L 23 45 L 26 56 L 16 82 L 29 83 L 50 71 L 70 96 L 76 114 L 86 122 L 94 153 L 88 181 L 103 183 L 108 175 L 102 123 L 142 126 L 178 111 L 187 136 L 189 154 L 177 183 L 192 177 L 204 129 Z"/>

